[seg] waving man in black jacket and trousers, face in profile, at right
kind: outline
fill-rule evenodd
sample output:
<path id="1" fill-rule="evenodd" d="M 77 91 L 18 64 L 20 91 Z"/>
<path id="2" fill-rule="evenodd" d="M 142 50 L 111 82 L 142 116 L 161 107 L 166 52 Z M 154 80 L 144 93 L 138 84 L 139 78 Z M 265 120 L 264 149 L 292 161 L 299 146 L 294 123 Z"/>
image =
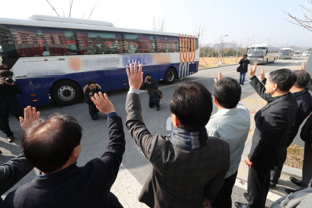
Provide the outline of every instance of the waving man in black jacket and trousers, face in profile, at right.
<path id="1" fill-rule="evenodd" d="M 286 151 L 286 136 L 297 112 L 295 97 L 289 92 L 296 74 L 281 68 L 269 73 L 265 86 L 255 76 L 257 63 L 250 69 L 250 84 L 268 104 L 255 114 L 255 131 L 251 150 L 245 159 L 249 167 L 248 204 L 235 202 L 237 207 L 264 207 L 270 186 L 270 171 Z"/>

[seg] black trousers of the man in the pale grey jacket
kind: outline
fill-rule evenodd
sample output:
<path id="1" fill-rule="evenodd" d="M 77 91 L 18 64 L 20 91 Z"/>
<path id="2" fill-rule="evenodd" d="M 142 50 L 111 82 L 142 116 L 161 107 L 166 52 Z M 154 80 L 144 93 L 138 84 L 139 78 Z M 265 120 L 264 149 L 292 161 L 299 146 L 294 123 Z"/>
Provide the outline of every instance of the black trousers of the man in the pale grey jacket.
<path id="1" fill-rule="evenodd" d="M 233 175 L 225 178 L 224 183 L 219 190 L 217 196 L 211 201 L 212 207 L 216 208 L 231 208 L 232 207 L 232 189 L 235 184 L 236 176 L 238 171 Z"/>

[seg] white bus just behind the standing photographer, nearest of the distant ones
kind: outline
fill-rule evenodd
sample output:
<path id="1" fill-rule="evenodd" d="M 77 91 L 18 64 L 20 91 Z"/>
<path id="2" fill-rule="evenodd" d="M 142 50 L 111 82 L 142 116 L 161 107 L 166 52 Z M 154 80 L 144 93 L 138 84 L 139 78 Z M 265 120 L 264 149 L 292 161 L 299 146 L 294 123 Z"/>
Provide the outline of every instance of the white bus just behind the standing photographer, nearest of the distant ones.
<path id="1" fill-rule="evenodd" d="M 278 47 L 274 47 L 268 44 L 256 44 L 247 48 L 248 59 L 251 64 L 257 63 L 274 63 L 278 58 Z"/>

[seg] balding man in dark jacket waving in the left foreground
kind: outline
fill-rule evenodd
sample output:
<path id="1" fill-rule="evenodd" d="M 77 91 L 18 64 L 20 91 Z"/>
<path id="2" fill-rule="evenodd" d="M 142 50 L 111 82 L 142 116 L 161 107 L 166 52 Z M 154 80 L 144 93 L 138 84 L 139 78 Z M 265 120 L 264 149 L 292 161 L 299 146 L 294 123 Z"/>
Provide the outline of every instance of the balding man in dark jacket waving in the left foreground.
<path id="1" fill-rule="evenodd" d="M 122 207 L 110 192 L 125 151 L 122 121 L 106 94 L 96 93 L 92 101 L 108 117 L 109 144 L 101 158 L 78 167 L 79 123 L 68 115 L 40 119 L 22 140 L 25 157 L 40 173 L 9 193 L 4 207 Z"/>

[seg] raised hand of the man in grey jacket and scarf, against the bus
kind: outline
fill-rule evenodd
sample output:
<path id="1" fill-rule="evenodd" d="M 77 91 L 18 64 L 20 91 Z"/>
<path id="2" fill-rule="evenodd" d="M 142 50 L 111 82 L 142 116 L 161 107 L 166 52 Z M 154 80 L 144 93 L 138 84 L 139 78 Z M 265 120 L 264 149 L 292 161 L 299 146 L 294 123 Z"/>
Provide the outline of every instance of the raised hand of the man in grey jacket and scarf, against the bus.
<path id="1" fill-rule="evenodd" d="M 143 72 L 142 72 L 143 65 L 139 65 L 139 69 L 137 69 L 137 63 L 134 62 L 134 66 L 130 63 L 130 70 L 129 68 L 126 69 L 129 86 L 130 89 L 140 89 L 142 82 L 143 82 Z"/>

